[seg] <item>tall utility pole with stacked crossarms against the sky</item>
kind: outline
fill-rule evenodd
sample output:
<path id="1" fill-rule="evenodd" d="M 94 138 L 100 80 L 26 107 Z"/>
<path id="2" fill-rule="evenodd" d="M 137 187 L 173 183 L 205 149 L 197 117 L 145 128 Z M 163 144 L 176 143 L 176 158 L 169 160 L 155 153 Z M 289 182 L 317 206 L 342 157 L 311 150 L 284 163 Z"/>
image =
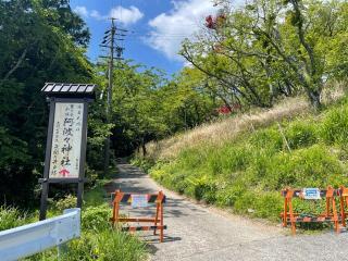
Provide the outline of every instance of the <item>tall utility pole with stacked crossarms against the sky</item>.
<path id="1" fill-rule="evenodd" d="M 117 32 L 121 32 L 117 33 Z M 107 110 L 105 110 L 105 119 L 107 124 L 111 122 L 111 111 L 112 111 L 112 88 L 113 88 L 113 70 L 114 70 L 114 60 L 123 60 L 122 53 L 124 48 L 116 45 L 116 40 L 124 40 L 122 36 L 125 36 L 125 34 L 122 34 L 127 32 L 125 29 L 117 28 L 115 25 L 115 18 L 111 18 L 111 28 L 108 29 L 104 33 L 103 41 L 101 47 L 109 49 L 109 55 L 108 57 L 101 57 L 108 59 L 108 97 L 107 97 Z M 119 39 L 115 38 L 115 36 L 121 36 Z M 116 54 L 116 57 L 114 55 Z M 104 140 L 104 174 L 107 175 L 109 173 L 109 165 L 110 165 L 110 135 Z"/>

